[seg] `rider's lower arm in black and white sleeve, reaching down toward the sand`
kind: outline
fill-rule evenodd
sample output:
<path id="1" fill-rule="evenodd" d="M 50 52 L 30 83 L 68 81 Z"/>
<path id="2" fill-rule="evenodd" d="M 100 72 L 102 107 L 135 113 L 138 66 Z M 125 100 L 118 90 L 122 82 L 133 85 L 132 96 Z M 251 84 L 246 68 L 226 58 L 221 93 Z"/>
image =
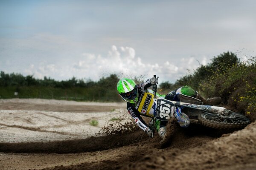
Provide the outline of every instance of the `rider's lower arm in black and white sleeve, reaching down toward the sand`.
<path id="1" fill-rule="evenodd" d="M 142 119 L 142 117 L 140 116 L 139 111 L 137 111 L 137 109 L 135 109 L 130 103 L 127 103 L 127 110 L 128 113 L 134 118 L 135 123 L 144 131 L 147 130 L 147 124 L 145 123 L 145 121 Z"/>

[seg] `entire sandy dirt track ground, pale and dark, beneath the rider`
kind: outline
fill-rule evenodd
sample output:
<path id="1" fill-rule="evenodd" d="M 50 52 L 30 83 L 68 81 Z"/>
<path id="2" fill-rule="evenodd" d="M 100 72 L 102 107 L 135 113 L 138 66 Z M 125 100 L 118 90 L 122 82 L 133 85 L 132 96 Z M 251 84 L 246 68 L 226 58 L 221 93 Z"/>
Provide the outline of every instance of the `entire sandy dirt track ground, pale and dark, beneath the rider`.
<path id="1" fill-rule="evenodd" d="M 133 124 L 125 122 L 130 120 L 125 109 L 120 109 L 124 105 L 99 105 L 1 101 L 0 169 L 256 169 L 256 122 L 235 132 L 199 125 L 176 127 L 169 145 L 160 148 L 158 136 L 151 139 L 138 128 L 127 130 Z M 108 122 L 113 115 L 120 115 L 119 120 Z M 41 125 L 43 120 L 39 118 L 44 118 L 44 124 L 48 125 Z M 99 119 L 101 123 L 92 127 L 90 119 Z M 36 130 L 38 127 L 40 130 Z M 84 127 L 91 129 L 86 131 Z M 116 135 L 96 136 L 88 131 L 116 132 Z"/>

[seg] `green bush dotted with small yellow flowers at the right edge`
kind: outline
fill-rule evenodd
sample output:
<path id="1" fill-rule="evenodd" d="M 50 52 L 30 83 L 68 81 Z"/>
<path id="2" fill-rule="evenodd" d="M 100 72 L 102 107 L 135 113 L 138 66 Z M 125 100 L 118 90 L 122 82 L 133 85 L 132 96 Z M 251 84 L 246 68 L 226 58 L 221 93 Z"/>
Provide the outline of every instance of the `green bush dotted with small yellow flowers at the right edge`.
<path id="1" fill-rule="evenodd" d="M 239 112 L 256 113 L 256 58 L 214 71 L 200 88 L 207 96 L 221 96 L 224 104 Z"/>

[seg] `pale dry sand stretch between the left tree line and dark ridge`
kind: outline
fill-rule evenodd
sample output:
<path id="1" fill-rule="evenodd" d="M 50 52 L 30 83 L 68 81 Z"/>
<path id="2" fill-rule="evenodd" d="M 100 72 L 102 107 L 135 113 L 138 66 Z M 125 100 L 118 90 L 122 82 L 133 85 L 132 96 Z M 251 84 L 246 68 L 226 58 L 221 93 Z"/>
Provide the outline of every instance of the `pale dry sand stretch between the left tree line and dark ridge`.
<path id="1" fill-rule="evenodd" d="M 124 106 L 46 99 L 1 100 L 0 142 L 50 142 L 95 136 L 106 121 L 119 116 Z M 99 124 L 90 125 L 93 120 Z"/>

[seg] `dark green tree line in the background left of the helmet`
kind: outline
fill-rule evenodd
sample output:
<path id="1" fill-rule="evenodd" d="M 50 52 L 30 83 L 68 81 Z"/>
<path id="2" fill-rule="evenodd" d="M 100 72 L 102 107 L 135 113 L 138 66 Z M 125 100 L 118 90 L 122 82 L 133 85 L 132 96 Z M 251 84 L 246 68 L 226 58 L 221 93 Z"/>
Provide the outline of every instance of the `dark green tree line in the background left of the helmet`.
<path id="1" fill-rule="evenodd" d="M 42 98 L 76 101 L 120 102 L 116 92 L 116 74 L 102 77 L 99 81 L 84 81 L 72 77 L 56 81 L 51 78 L 36 79 L 32 75 L 0 73 L 0 98 Z"/>

